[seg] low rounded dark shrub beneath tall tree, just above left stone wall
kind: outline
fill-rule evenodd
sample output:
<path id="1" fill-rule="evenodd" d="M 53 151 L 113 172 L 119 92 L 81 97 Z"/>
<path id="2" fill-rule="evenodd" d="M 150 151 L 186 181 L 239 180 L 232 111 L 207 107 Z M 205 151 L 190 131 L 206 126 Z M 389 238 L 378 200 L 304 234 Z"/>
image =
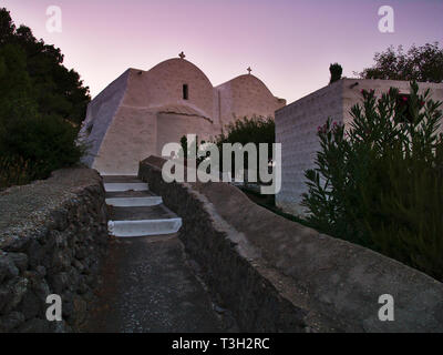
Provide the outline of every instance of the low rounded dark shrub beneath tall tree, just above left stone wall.
<path id="1" fill-rule="evenodd" d="M 78 129 L 68 121 L 20 111 L 11 112 L 0 122 L 3 187 L 45 179 L 54 170 L 78 163 L 85 151 L 85 146 L 76 142 Z"/>

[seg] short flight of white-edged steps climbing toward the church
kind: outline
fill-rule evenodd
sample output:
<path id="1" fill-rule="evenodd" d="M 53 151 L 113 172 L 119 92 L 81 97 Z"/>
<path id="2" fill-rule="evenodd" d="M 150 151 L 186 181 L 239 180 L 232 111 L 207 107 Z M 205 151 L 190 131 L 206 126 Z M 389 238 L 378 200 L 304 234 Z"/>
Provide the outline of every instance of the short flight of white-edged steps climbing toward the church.
<path id="1" fill-rule="evenodd" d="M 168 210 L 162 196 L 153 194 L 148 184 L 128 175 L 104 175 L 106 204 L 110 209 L 107 230 L 116 237 L 173 234 L 182 219 Z"/>

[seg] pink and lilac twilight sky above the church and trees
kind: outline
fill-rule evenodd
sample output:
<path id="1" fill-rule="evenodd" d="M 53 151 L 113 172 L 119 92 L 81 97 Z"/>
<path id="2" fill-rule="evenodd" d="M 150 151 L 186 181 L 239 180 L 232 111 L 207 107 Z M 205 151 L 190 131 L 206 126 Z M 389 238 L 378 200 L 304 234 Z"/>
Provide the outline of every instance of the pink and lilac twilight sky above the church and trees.
<path id="1" fill-rule="evenodd" d="M 378 30 L 384 4 L 394 9 L 394 33 Z M 62 10 L 61 33 L 45 30 L 49 6 Z M 0 0 L 0 7 L 60 47 L 92 97 L 127 68 L 148 70 L 184 51 L 214 85 L 250 65 L 289 103 L 326 85 L 331 62 L 352 77 L 390 44 L 443 44 L 443 0 Z"/>

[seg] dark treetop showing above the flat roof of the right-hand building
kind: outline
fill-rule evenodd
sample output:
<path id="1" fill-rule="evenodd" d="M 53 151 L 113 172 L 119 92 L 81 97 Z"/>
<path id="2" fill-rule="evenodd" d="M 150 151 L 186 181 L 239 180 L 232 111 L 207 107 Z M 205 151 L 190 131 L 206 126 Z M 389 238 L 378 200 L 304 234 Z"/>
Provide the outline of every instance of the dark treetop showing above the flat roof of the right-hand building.
<path id="1" fill-rule="evenodd" d="M 402 45 L 395 52 L 391 45 L 384 52 L 377 52 L 374 61 L 372 68 L 354 74 L 363 79 L 443 82 L 443 49 L 439 42 L 422 47 L 414 44 L 408 52 Z"/>

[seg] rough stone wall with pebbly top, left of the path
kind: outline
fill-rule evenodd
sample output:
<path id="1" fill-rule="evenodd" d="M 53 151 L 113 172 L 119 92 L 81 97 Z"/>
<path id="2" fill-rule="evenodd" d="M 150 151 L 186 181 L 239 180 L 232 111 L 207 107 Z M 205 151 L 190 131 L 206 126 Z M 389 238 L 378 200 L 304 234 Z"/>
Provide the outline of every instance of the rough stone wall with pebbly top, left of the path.
<path id="1" fill-rule="evenodd" d="M 107 245 L 100 175 L 66 169 L 0 193 L 0 333 L 76 331 L 94 298 Z M 49 294 L 62 322 L 49 322 Z"/>

